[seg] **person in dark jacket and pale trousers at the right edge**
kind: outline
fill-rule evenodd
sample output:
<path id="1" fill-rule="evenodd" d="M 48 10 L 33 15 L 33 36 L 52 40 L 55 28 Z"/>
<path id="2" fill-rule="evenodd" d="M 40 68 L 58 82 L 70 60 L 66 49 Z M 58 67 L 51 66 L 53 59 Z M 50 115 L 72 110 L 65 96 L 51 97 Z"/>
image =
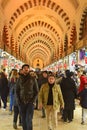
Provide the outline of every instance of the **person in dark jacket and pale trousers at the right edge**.
<path id="1" fill-rule="evenodd" d="M 80 97 L 80 105 L 82 107 L 82 122 L 84 125 L 87 117 L 87 81 L 84 83 L 84 89 L 78 93 L 78 97 Z"/>

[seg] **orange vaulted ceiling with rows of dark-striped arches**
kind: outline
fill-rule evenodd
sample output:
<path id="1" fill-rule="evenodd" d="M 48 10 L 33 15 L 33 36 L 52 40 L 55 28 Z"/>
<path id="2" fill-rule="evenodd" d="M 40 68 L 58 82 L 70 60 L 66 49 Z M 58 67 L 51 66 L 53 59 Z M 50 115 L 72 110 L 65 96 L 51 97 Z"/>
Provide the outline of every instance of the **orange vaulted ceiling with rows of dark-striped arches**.
<path id="1" fill-rule="evenodd" d="M 61 58 L 81 40 L 86 0 L 0 0 L 0 45 L 16 58 L 40 68 Z"/>

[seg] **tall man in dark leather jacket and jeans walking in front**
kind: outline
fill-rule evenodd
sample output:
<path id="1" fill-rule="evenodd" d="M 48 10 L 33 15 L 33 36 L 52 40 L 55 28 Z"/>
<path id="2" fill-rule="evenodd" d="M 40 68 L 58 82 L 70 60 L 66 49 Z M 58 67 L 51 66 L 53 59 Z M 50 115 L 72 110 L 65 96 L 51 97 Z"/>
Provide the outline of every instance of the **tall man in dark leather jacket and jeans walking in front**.
<path id="1" fill-rule="evenodd" d="M 16 94 L 19 109 L 22 117 L 23 130 L 33 130 L 32 119 L 34 113 L 34 104 L 38 95 L 38 85 L 34 77 L 29 74 L 29 65 L 22 66 L 23 74 L 20 75 Z"/>

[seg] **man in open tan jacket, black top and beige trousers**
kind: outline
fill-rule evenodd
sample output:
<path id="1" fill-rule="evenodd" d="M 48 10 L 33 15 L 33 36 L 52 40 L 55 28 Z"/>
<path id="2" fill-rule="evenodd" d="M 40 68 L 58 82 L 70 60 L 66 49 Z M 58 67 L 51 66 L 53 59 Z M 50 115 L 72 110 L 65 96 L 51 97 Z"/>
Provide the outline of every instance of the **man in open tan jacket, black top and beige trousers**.
<path id="1" fill-rule="evenodd" d="M 48 75 L 48 82 L 41 86 L 38 95 L 39 109 L 46 110 L 48 130 L 57 130 L 57 112 L 64 107 L 62 92 L 55 80 L 54 74 Z"/>

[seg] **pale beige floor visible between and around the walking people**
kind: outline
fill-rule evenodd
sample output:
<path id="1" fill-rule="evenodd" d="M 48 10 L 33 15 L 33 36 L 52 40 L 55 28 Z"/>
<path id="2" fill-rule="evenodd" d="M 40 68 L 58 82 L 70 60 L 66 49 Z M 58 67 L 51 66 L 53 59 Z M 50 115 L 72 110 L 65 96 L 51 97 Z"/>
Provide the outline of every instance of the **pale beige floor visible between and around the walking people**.
<path id="1" fill-rule="evenodd" d="M 74 120 L 71 123 L 63 123 L 58 119 L 58 130 L 86 130 L 87 122 L 85 125 L 81 125 L 81 107 L 76 105 L 74 114 Z M 33 119 L 33 130 L 47 130 L 46 119 L 41 118 L 41 111 L 36 111 Z M 12 127 L 12 115 L 9 115 L 9 111 L 0 109 L 0 130 L 14 130 Z M 22 130 L 18 126 L 18 130 Z"/>

